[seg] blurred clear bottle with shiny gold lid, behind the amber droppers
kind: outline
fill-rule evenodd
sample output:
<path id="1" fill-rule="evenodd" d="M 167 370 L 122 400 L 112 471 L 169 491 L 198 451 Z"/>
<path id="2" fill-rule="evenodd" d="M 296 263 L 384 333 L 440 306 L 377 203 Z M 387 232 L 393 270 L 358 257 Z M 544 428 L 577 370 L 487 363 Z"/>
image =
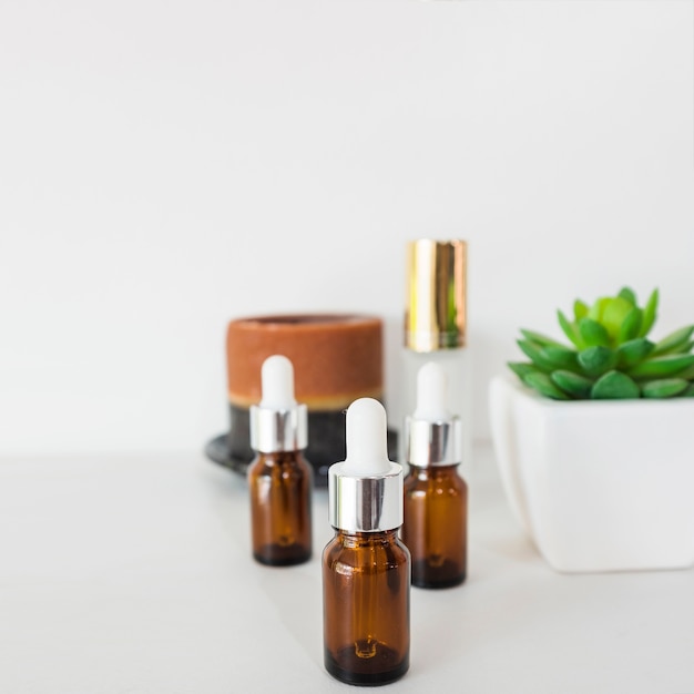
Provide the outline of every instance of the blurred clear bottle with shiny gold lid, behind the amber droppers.
<path id="1" fill-rule="evenodd" d="M 402 382 L 405 418 L 415 411 L 417 372 L 429 361 L 441 366 L 449 384 L 450 410 L 462 418 L 462 467 L 470 473 L 472 384 L 467 346 L 468 244 L 462 239 L 420 238 L 407 244 L 405 349 Z M 405 460 L 406 437 L 400 437 Z"/>

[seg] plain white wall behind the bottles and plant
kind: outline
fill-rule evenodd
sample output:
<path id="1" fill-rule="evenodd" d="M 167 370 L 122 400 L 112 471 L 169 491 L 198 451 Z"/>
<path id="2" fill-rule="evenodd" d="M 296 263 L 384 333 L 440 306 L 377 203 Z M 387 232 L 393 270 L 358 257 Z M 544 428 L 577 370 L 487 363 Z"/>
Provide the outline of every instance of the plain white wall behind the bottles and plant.
<path id="1" fill-rule="evenodd" d="M 519 326 L 694 319 L 694 6 L 3 0 L 0 453 L 200 449 L 233 317 L 387 322 L 470 242 L 474 431 Z"/>

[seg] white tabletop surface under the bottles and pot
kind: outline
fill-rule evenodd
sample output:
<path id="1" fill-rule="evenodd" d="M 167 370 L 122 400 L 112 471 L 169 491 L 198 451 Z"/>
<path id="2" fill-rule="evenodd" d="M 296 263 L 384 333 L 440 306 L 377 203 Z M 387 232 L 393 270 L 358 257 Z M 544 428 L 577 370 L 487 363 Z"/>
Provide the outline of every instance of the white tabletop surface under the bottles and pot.
<path id="1" fill-rule="evenodd" d="M 694 693 L 694 571 L 555 573 L 476 452 L 468 581 L 412 589 L 389 687 Z M 0 692 L 354 691 L 323 667 L 325 491 L 300 567 L 255 563 L 248 516 L 245 480 L 197 453 L 0 462 Z"/>

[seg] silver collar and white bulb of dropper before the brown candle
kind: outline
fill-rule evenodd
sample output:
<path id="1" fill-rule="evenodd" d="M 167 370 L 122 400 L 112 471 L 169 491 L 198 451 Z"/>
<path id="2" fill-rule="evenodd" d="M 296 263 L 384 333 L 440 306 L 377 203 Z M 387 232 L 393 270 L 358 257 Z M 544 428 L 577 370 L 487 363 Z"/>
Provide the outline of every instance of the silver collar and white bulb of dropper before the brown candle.
<path id="1" fill-rule="evenodd" d="M 251 448 L 262 453 L 303 450 L 308 445 L 308 414 L 294 399 L 294 367 L 280 355 L 268 357 L 261 374 L 263 399 L 251 406 Z"/>

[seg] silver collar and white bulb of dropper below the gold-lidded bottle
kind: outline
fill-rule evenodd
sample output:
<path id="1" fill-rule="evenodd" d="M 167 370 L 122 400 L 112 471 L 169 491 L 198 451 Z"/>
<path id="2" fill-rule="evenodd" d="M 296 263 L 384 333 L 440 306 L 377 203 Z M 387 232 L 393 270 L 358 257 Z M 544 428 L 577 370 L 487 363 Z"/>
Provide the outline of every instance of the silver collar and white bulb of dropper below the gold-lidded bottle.
<path id="1" fill-rule="evenodd" d="M 462 461 L 462 425 L 446 407 L 446 372 L 436 361 L 417 374 L 417 408 L 405 419 L 405 459 L 420 468 Z"/>

